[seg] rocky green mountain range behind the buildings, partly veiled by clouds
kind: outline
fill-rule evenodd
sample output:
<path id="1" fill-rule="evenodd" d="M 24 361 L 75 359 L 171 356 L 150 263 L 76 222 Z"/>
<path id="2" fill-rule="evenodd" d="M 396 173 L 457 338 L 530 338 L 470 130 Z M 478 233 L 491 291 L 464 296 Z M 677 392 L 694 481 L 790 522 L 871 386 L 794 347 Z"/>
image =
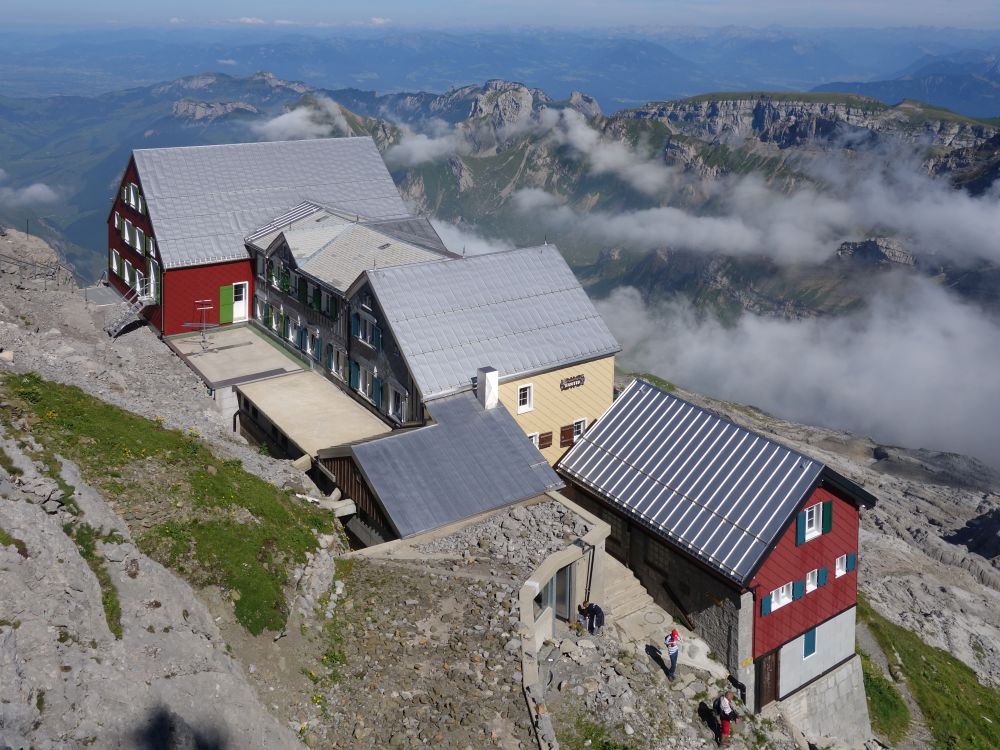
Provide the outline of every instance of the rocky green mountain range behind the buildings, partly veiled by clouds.
<path id="1" fill-rule="evenodd" d="M 565 138 L 540 124 L 543 113 L 563 110 L 579 113 L 586 132 L 602 142 L 619 144 L 624 150 L 618 157 L 626 155 L 632 167 L 666 165 L 693 179 L 682 177 L 686 187 L 664 202 L 620 171 L 589 168 Z M 422 135 L 407 135 L 411 130 Z M 189 76 L 89 98 L 0 98 L 4 184 L 41 182 L 58 196 L 50 204 L 0 201 L 0 223 L 29 219 L 82 276 L 93 278 L 104 266 L 105 214 L 133 148 L 352 134 L 371 135 L 387 151 L 393 176 L 420 210 L 510 244 L 557 241 L 597 294 L 629 284 L 649 299 L 682 295 L 723 317 L 741 310 L 810 316 L 854 309 L 877 283 L 873 269 L 903 269 L 938 276 L 963 296 L 1000 310 L 1000 271 L 988 264 L 953 269 L 932 257 L 913 257 L 905 243 L 891 252 L 877 243 L 851 245 L 877 227 L 845 236 L 842 252 L 827 262 L 793 267 L 767 257 L 685 251 L 668 241 L 631 252 L 628 243 L 585 229 L 526 221 L 516 205 L 522 191 L 540 189 L 584 214 L 665 205 L 697 214 L 711 210 L 716 199 L 710 186 L 728 176 L 756 175 L 779 193 L 803 185 L 821 189 L 799 160 L 862 141 L 909 144 L 918 152 L 931 146 L 923 169 L 974 194 L 1000 175 L 997 126 L 853 94 L 714 94 L 605 115 L 585 94 L 557 100 L 508 81 L 445 94 L 377 94 L 314 89 L 259 73 Z M 407 160 L 393 148 L 421 138 L 443 144 L 444 151 Z"/>

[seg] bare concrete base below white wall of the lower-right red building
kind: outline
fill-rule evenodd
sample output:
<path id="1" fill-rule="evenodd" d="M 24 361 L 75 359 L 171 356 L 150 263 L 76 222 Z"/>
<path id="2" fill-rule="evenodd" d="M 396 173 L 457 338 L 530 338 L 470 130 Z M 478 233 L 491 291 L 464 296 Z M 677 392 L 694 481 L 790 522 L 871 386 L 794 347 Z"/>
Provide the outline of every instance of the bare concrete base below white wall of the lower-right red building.
<path id="1" fill-rule="evenodd" d="M 861 659 L 849 661 L 780 703 L 793 729 L 818 747 L 858 748 L 872 736 Z"/>

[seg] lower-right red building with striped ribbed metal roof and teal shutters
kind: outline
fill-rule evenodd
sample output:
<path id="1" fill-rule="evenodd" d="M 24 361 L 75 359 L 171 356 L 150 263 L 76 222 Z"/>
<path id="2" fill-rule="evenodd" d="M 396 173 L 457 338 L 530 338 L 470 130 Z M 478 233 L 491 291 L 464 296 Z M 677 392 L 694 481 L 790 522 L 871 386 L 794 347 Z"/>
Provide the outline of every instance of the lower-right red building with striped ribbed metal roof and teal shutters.
<path id="1" fill-rule="evenodd" d="M 642 380 L 557 470 L 611 524 L 608 551 L 708 642 L 751 709 L 844 683 L 838 671 L 863 690 L 858 514 L 875 503 L 865 490 Z"/>

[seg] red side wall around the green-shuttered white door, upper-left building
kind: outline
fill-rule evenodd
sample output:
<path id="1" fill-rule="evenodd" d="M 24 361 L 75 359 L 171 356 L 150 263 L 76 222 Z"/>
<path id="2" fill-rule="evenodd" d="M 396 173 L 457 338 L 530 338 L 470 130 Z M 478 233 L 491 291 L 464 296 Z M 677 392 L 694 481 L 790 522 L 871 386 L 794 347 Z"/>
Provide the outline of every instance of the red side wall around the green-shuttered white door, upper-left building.
<path id="1" fill-rule="evenodd" d="M 185 323 L 200 323 L 196 300 L 211 300 L 212 309 L 205 321 L 219 322 L 219 287 L 247 282 L 247 316 L 253 315 L 254 275 L 250 260 L 214 263 L 207 266 L 173 268 L 163 272 L 163 334 L 190 333 L 198 330 Z"/>

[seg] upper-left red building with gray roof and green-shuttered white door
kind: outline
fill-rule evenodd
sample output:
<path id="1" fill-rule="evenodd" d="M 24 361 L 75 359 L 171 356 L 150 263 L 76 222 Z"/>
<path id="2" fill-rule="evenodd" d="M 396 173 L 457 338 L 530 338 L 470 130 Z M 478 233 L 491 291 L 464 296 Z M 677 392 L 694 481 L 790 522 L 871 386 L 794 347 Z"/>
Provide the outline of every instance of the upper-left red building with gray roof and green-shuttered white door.
<path id="1" fill-rule="evenodd" d="M 363 138 L 137 149 L 108 215 L 108 280 L 161 335 L 247 320 L 244 236 L 303 201 L 360 219 L 409 215 L 374 142 Z"/>

